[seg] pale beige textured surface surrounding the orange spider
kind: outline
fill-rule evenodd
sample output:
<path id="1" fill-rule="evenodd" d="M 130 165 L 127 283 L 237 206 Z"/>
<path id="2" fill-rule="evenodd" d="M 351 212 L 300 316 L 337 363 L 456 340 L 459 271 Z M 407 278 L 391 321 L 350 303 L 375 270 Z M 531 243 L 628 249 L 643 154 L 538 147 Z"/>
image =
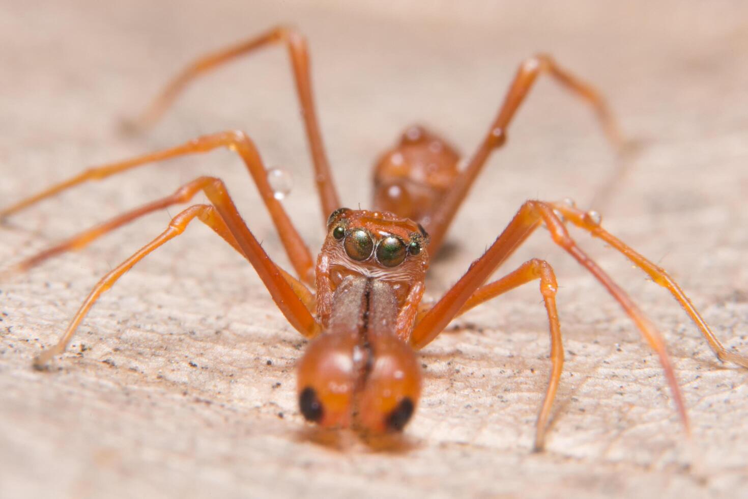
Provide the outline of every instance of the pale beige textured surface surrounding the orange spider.
<path id="1" fill-rule="evenodd" d="M 195 85 L 146 137 L 121 137 L 117 119 L 140 109 L 191 56 L 293 22 L 311 41 L 343 199 L 367 206 L 370 165 L 402 127 L 431 123 L 469 151 L 519 61 L 545 50 L 603 89 L 643 144 L 615 196 L 593 207 L 672 271 L 727 346 L 748 352 L 745 4 L 417 7 L 424 3 L 4 0 L 0 203 L 86 165 L 239 128 L 269 165 L 292 172 L 286 206 L 316 250 L 319 212 L 281 49 Z M 455 251 L 433 267 L 434 295 L 522 200 L 587 203 L 615 165 L 586 108 L 548 81 L 533 90 L 509 136 L 453 227 Z M 252 229 L 285 263 L 254 187 L 226 152 L 45 202 L 0 228 L 0 261 L 200 174 L 227 181 Z M 509 263 L 547 258 L 562 286 L 567 363 L 548 450 L 539 455 L 530 449 L 548 335 L 535 284 L 459 319 L 423 352 L 426 385 L 408 447 L 375 452 L 348 433 L 325 446 L 310 438 L 296 407 L 304 341 L 252 269 L 204 227 L 129 272 L 52 373 L 31 370 L 31 357 L 55 341 L 99 276 L 176 212 L 0 283 L 0 497 L 687 498 L 739 497 L 748 487 L 748 373 L 721 366 L 663 290 L 581 233 L 669 340 L 693 418 L 693 453 L 657 359 L 543 231 Z"/>

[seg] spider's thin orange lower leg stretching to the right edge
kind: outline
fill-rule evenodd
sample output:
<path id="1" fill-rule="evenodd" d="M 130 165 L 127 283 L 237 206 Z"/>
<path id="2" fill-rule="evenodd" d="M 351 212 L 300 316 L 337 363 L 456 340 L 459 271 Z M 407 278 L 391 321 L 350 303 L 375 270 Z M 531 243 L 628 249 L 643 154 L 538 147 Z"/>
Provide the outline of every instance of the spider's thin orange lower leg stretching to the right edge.
<path id="1" fill-rule="evenodd" d="M 696 323 L 699 331 L 704 335 L 712 351 L 717 355 L 717 358 L 719 358 L 720 361 L 734 362 L 743 367 L 748 367 L 747 357 L 734 352 L 728 352 L 725 349 L 722 343 L 720 343 L 720 340 L 718 340 L 711 331 L 709 325 L 702 318 L 699 311 L 696 310 L 696 307 L 693 306 L 693 303 L 691 303 L 690 299 L 686 296 L 686 293 L 684 293 L 681 287 L 678 286 L 678 283 L 673 281 L 665 269 L 654 265 L 650 260 L 647 260 L 645 257 L 638 254 L 637 251 L 634 251 L 631 246 L 625 244 L 625 242 L 622 242 L 616 236 L 613 236 L 613 234 L 600 226 L 600 219 L 591 216 L 589 212 L 583 212 L 574 206 L 570 206 L 568 203 L 551 204 L 555 209 L 561 212 L 568 221 L 571 221 L 572 224 L 581 227 L 583 230 L 589 232 L 593 237 L 599 237 L 613 248 L 616 248 L 616 250 L 620 251 L 628 258 L 628 260 L 631 260 L 634 265 L 646 272 L 649 277 L 652 278 L 652 281 L 666 288 L 666 290 L 669 290 L 670 294 L 678 300 L 678 303 L 681 304 L 681 307 L 683 307 L 683 310 L 686 311 L 691 320 Z"/>

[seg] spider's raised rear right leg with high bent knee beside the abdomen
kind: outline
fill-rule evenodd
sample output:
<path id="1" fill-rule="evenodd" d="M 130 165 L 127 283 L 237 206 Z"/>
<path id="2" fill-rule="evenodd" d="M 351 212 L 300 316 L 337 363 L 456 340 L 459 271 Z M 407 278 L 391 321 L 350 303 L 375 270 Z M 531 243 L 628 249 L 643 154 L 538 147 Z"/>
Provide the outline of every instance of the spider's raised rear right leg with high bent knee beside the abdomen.
<path id="1" fill-rule="evenodd" d="M 444 202 L 440 204 L 438 210 L 432 215 L 432 222 L 426 227 L 431 236 L 429 244 L 430 254 L 436 254 L 435 250 L 441 246 L 447 229 L 450 227 L 457 210 L 462 205 L 462 201 L 468 195 L 470 186 L 473 185 L 483 165 L 488 160 L 488 156 L 491 155 L 493 150 L 503 146 L 506 142 L 506 132 L 512 123 L 515 112 L 522 102 L 524 102 L 527 94 L 530 92 L 530 88 L 533 88 L 533 84 L 542 73 L 550 75 L 562 87 L 591 105 L 595 114 L 597 114 L 600 126 L 604 130 L 608 141 L 613 144 L 616 150 L 622 150 L 624 141 L 616 120 L 613 119 L 613 114 L 610 112 L 607 102 L 592 85 L 583 82 L 560 67 L 550 55 L 540 54 L 527 59 L 520 64 L 517 75 L 512 84 L 509 85 L 509 90 L 506 92 L 503 103 L 499 108 L 499 114 L 497 114 L 491 126 L 488 127 L 488 133 L 485 135 L 485 138 L 483 138 L 473 156 L 470 157 L 468 165 L 465 166 L 462 174 L 457 177 L 454 186 L 447 192 Z"/>

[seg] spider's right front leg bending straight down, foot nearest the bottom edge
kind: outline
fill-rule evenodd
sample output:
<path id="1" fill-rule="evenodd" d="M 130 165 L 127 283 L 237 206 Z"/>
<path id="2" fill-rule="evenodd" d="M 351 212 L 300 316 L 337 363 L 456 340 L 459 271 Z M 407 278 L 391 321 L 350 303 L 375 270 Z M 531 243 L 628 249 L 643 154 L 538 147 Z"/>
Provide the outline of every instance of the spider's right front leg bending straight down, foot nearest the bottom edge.
<path id="1" fill-rule="evenodd" d="M 548 326 L 551 331 L 551 374 L 548 380 L 548 388 L 545 398 L 538 412 L 536 423 L 535 450 L 545 447 L 545 432 L 548 429 L 548 418 L 551 416 L 551 407 L 554 404 L 556 391 L 563 370 L 563 345 L 561 340 L 561 325 L 556 308 L 556 292 L 558 284 L 554 269 L 545 260 L 533 258 L 519 266 L 514 272 L 505 275 L 490 284 L 479 287 L 473 292 L 468 301 L 462 306 L 459 314 L 465 313 L 485 301 L 515 289 L 530 281 L 540 280 L 540 293 L 545 301 L 545 310 L 548 312 Z"/>

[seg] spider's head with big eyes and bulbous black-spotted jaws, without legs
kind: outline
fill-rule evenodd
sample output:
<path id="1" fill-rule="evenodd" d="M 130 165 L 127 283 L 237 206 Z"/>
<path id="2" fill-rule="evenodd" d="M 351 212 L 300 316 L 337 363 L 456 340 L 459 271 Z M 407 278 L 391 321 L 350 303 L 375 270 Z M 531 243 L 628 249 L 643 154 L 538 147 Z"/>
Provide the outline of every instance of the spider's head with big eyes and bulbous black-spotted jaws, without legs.
<path id="1" fill-rule="evenodd" d="M 337 209 L 317 259 L 322 334 L 301 360 L 301 413 L 322 426 L 399 430 L 420 395 L 408 346 L 423 296 L 428 236 L 387 212 Z"/>

